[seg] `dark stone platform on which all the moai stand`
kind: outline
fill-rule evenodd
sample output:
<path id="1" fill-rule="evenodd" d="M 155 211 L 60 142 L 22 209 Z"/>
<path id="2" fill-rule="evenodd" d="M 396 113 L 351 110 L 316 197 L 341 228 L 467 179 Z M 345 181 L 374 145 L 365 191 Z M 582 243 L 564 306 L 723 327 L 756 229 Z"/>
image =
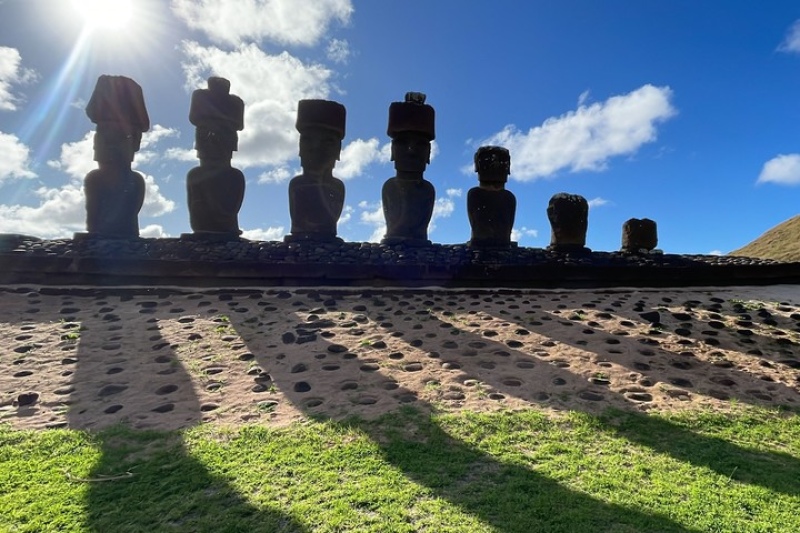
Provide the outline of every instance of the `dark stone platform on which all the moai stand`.
<path id="1" fill-rule="evenodd" d="M 800 283 L 800 263 L 714 255 L 375 243 L 0 235 L 0 284 L 602 288 Z"/>

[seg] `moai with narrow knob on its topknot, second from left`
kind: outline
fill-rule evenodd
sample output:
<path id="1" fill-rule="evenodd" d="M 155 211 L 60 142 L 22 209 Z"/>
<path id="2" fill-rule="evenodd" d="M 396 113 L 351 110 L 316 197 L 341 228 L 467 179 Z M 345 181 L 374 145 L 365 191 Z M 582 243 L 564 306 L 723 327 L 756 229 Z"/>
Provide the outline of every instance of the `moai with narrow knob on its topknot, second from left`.
<path id="1" fill-rule="evenodd" d="M 235 240 L 239 209 L 244 200 L 244 174 L 231 166 L 244 129 L 244 102 L 230 94 L 225 78 L 208 78 L 208 88 L 192 93 L 189 122 L 195 126 L 195 143 L 200 166 L 186 175 L 189 224 L 194 236 L 214 240 Z M 188 237 L 188 235 L 184 235 Z"/>

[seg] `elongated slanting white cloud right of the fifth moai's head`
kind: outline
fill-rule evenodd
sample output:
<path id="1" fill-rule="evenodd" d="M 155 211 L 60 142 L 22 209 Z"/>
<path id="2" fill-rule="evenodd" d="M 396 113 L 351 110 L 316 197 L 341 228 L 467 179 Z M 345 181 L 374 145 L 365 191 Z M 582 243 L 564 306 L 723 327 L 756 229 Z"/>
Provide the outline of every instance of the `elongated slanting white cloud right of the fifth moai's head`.
<path id="1" fill-rule="evenodd" d="M 511 177 L 521 181 L 571 172 L 604 170 L 611 157 L 631 154 L 656 139 L 656 125 L 675 115 L 669 87 L 644 85 L 605 102 L 579 105 L 541 126 L 516 126 L 481 141 L 511 152 Z"/>

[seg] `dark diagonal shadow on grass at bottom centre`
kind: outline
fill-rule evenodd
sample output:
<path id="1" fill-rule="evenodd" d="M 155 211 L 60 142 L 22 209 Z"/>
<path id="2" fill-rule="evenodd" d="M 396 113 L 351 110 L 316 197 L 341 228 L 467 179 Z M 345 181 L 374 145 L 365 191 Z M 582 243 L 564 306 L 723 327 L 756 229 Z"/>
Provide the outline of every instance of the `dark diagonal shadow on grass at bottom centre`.
<path id="1" fill-rule="evenodd" d="M 496 531 L 693 531 L 667 516 L 603 502 L 529 467 L 499 461 L 414 408 L 391 419 L 339 424 L 367 433 L 387 462 Z"/>

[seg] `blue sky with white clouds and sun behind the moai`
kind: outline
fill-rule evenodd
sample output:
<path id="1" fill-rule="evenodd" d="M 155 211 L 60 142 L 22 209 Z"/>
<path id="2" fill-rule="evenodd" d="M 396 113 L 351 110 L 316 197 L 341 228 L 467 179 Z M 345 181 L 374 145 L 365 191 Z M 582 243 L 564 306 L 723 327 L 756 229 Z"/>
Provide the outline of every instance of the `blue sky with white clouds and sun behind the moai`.
<path id="1" fill-rule="evenodd" d="M 102 74 L 144 91 L 143 237 L 191 231 L 189 101 L 212 75 L 245 102 L 249 239 L 289 232 L 297 102 L 323 98 L 347 109 L 339 236 L 379 241 L 388 108 L 408 91 L 436 110 L 436 243 L 469 240 L 482 145 L 511 153 L 520 246 L 550 243 L 559 192 L 589 201 L 597 251 L 650 218 L 667 253 L 728 253 L 800 212 L 797 0 L 0 0 L 0 233 L 85 231 Z"/>

